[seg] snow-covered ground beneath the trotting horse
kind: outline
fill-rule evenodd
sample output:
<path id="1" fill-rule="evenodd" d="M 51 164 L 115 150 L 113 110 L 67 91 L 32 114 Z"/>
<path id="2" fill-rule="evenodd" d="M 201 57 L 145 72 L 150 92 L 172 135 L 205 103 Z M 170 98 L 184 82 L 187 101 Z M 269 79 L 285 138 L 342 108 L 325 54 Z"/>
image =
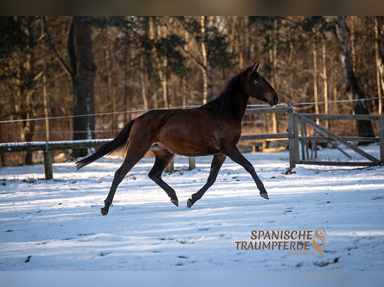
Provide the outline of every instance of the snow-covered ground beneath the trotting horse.
<path id="1" fill-rule="evenodd" d="M 378 145 L 365 150 L 379 157 Z M 337 149 L 319 155 L 345 160 Z M 154 159 L 146 157 L 119 185 L 106 216 L 100 207 L 121 158 L 79 171 L 74 162 L 54 164 L 49 181 L 41 179 L 41 165 L 1 168 L 0 270 L 384 270 L 384 166 L 298 165 L 286 172 L 287 151 L 245 156 L 269 200 L 227 158 L 189 209 L 186 200 L 206 182 L 211 157 L 196 158 L 190 171 L 187 158 L 176 157 L 177 170 L 163 175 L 176 190 L 176 207 L 147 177 Z M 284 236 L 265 237 L 273 231 Z M 299 239 L 308 241 L 305 252 L 290 245 Z M 278 241 L 280 250 L 272 249 Z M 255 249 L 259 244 L 264 249 Z"/>

